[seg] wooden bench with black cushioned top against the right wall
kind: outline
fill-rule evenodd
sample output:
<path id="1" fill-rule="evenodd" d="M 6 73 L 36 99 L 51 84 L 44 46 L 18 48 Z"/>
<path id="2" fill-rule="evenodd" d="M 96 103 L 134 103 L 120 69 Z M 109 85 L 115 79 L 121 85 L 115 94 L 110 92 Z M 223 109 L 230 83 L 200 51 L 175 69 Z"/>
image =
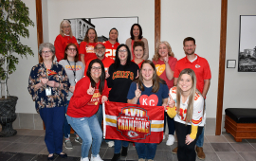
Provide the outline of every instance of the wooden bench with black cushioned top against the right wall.
<path id="1" fill-rule="evenodd" d="M 232 134 L 235 141 L 256 138 L 256 109 L 228 108 L 225 113 L 226 132 Z"/>

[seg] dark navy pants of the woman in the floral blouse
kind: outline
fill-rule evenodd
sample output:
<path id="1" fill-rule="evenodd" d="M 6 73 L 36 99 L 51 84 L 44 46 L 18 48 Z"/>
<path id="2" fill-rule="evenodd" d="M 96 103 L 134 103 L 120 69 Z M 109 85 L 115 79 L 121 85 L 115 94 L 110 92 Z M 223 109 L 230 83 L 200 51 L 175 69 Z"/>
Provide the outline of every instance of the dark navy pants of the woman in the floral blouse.
<path id="1" fill-rule="evenodd" d="M 64 106 L 39 110 L 46 126 L 45 142 L 49 153 L 63 152 Z"/>

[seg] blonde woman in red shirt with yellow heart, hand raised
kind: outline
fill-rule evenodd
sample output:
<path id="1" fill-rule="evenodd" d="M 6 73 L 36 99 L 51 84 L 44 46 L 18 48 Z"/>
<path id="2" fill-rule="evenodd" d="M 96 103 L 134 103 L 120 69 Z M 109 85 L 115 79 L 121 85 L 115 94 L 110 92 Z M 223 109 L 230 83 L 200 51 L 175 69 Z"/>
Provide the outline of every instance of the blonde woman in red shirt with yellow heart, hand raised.
<path id="1" fill-rule="evenodd" d="M 175 64 L 177 63 L 177 59 L 174 58 L 174 52 L 172 51 L 172 47 L 168 42 L 163 41 L 156 45 L 153 63 L 155 63 L 157 75 L 166 81 L 169 89 L 172 88 L 174 86 L 174 68 Z M 166 145 L 171 146 L 174 144 L 174 119 L 170 118 L 170 116 L 167 116 L 166 113 L 164 115 L 164 132 L 166 119 L 169 129 Z M 165 138 L 165 135 L 163 135 L 163 138 Z"/>

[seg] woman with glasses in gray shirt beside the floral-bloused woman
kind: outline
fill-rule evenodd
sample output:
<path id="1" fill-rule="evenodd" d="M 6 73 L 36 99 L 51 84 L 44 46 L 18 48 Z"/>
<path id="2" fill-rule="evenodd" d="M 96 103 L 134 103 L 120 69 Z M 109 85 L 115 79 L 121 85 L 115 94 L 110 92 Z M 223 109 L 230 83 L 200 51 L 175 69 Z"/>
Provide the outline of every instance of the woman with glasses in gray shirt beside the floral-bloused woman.
<path id="1" fill-rule="evenodd" d="M 60 64 L 64 66 L 65 73 L 69 79 L 70 88 L 65 106 L 65 113 L 67 111 L 67 106 L 69 104 L 70 98 L 73 96 L 75 91 L 76 83 L 82 79 L 84 66 L 82 62 L 79 61 L 78 47 L 74 44 L 66 45 L 64 50 L 64 60 L 60 61 Z M 66 149 L 73 149 L 72 143 L 70 141 L 70 125 L 67 123 L 66 118 L 64 119 L 64 147 Z M 76 134 L 75 141 L 82 144 L 82 139 Z"/>

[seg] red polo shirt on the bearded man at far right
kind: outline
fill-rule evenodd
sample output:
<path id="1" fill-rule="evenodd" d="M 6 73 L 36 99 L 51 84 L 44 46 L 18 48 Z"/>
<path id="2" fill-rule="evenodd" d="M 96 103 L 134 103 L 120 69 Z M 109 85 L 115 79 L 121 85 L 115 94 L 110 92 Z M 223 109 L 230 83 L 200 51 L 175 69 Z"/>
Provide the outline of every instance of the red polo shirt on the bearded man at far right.
<path id="1" fill-rule="evenodd" d="M 195 54 L 196 55 L 196 54 Z M 208 61 L 198 55 L 194 62 L 190 62 L 187 57 L 182 58 L 176 63 L 174 69 L 174 78 L 178 78 L 179 73 L 185 68 L 191 68 L 196 76 L 196 88 L 203 93 L 205 82 L 204 80 L 210 80 L 210 65 Z"/>

